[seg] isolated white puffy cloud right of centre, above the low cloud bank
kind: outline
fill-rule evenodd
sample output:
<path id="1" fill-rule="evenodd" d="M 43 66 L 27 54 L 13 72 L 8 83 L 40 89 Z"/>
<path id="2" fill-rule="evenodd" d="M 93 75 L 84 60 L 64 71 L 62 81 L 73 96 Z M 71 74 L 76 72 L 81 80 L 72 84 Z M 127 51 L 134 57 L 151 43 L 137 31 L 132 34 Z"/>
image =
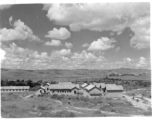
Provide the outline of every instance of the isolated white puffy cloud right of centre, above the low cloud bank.
<path id="1" fill-rule="evenodd" d="M 93 41 L 88 50 L 99 51 L 99 50 L 107 50 L 113 48 L 113 42 L 116 42 L 114 39 L 109 39 L 107 37 L 101 37 L 97 41 Z"/>

